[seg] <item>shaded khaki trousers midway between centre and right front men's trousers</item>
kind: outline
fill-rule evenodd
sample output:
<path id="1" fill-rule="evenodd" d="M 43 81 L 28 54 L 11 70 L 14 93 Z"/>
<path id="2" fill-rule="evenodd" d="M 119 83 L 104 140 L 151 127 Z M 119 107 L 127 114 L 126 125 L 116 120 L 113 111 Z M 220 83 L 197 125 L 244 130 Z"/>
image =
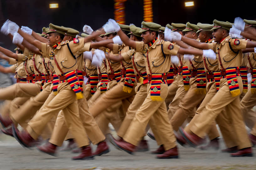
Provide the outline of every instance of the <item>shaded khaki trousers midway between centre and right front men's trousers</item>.
<path id="1" fill-rule="evenodd" d="M 196 89 L 196 78 L 190 78 L 189 90 L 185 94 L 184 98 L 179 102 L 179 108 L 177 108 L 170 120 L 173 130 L 178 131 L 179 127 L 187 118 L 191 120 L 195 116 L 195 108 L 205 98 L 205 94 L 196 94 Z"/>

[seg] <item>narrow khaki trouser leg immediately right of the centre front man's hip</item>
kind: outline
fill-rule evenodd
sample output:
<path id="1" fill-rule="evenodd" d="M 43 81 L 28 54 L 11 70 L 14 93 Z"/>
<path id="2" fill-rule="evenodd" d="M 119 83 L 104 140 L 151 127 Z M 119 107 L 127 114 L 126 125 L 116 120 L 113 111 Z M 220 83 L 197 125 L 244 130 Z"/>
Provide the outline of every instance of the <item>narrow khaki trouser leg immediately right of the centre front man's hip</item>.
<path id="1" fill-rule="evenodd" d="M 182 75 L 177 75 L 177 77 L 175 78 L 175 81 L 176 79 L 178 83 L 178 89 L 173 98 L 173 101 L 169 104 L 169 109 L 168 109 L 169 120 L 173 117 L 173 114 L 179 108 L 179 102 L 184 98 L 185 94 L 188 92 L 188 91 L 185 91 Z"/>

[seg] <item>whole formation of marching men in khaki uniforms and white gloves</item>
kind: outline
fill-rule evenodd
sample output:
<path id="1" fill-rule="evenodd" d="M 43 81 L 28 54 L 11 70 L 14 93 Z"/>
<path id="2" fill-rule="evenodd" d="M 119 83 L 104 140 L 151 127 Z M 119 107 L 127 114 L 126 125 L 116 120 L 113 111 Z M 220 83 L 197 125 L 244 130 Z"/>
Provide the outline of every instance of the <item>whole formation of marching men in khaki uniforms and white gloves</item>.
<path id="1" fill-rule="evenodd" d="M 17 62 L 5 68 L 15 71 L 17 83 L 1 89 L 1 99 L 12 100 L 10 114 L 1 116 L 2 131 L 24 147 L 38 145 L 39 136 L 50 138 L 37 147 L 50 155 L 56 155 L 65 139 L 75 141 L 81 154 L 72 159 L 80 160 L 109 152 L 104 136 L 109 123 L 118 135 L 110 135 L 110 142 L 130 154 L 148 150 L 143 137 L 150 127 L 153 134 L 148 135 L 160 146 L 152 153 L 178 158 L 176 138 L 181 145 L 195 147 L 207 134 L 210 143 L 201 149 L 218 148 L 217 123 L 227 145 L 223 152 L 252 156 L 255 136 L 252 130 L 248 137 L 243 116 L 249 128 L 254 116 L 242 115 L 240 105 L 254 106 L 248 102 L 254 86 L 247 90 L 246 65 L 253 75 L 254 53 L 247 52 L 254 52 L 256 44 L 241 35 L 253 39 L 255 23 L 240 18 L 233 25 L 213 23 L 172 23 L 164 28 L 142 22 L 139 28 L 109 19 L 104 30 L 85 25 L 87 34 L 77 37 L 79 32 L 72 28 L 50 24 L 39 35 L 6 21 L 1 32 L 23 54 L 1 47 L 1 58 Z M 185 121 L 189 125 L 179 130 Z M 236 134 L 232 138 L 231 132 Z M 89 140 L 98 145 L 95 152 Z"/>

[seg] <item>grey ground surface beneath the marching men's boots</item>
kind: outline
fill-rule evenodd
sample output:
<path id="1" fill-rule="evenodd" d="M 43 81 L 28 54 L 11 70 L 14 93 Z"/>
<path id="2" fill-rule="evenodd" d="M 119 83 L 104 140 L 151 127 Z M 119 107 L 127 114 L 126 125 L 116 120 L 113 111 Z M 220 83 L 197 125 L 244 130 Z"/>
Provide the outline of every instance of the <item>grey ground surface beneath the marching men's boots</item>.
<path id="1" fill-rule="evenodd" d="M 150 150 L 157 148 L 155 141 L 148 139 Z M 66 144 L 66 143 L 65 143 Z M 229 153 L 201 151 L 184 148 L 180 145 L 179 159 L 156 159 L 150 152 L 136 153 L 135 156 L 115 149 L 110 143 L 111 152 L 94 160 L 72 161 L 77 154 L 59 152 L 58 157 L 40 153 L 35 148 L 24 149 L 13 138 L 0 134 L 1 170 L 85 170 L 98 167 L 101 170 L 253 170 L 256 169 L 255 157 L 232 158 Z M 224 148 L 221 140 L 221 148 Z M 95 146 L 93 147 L 95 150 Z M 256 149 L 254 149 L 256 153 Z"/>

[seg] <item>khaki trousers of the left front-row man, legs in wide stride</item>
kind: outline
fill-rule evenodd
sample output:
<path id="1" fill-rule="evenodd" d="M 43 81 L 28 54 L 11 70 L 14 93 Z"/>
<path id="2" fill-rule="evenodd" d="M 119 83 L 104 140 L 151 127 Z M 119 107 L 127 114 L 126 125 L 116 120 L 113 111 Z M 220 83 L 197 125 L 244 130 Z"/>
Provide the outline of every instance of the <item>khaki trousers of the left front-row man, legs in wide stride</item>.
<path id="1" fill-rule="evenodd" d="M 47 98 L 40 111 L 29 121 L 26 128 L 28 133 L 34 139 L 37 139 L 50 119 L 63 110 L 65 123 L 74 136 L 77 145 L 79 147 L 89 145 L 87 134 L 79 116 L 76 94 L 71 86 L 67 82 L 59 83 L 58 94 L 54 97 L 53 95 L 52 92 L 49 95 L 49 100 Z"/>

